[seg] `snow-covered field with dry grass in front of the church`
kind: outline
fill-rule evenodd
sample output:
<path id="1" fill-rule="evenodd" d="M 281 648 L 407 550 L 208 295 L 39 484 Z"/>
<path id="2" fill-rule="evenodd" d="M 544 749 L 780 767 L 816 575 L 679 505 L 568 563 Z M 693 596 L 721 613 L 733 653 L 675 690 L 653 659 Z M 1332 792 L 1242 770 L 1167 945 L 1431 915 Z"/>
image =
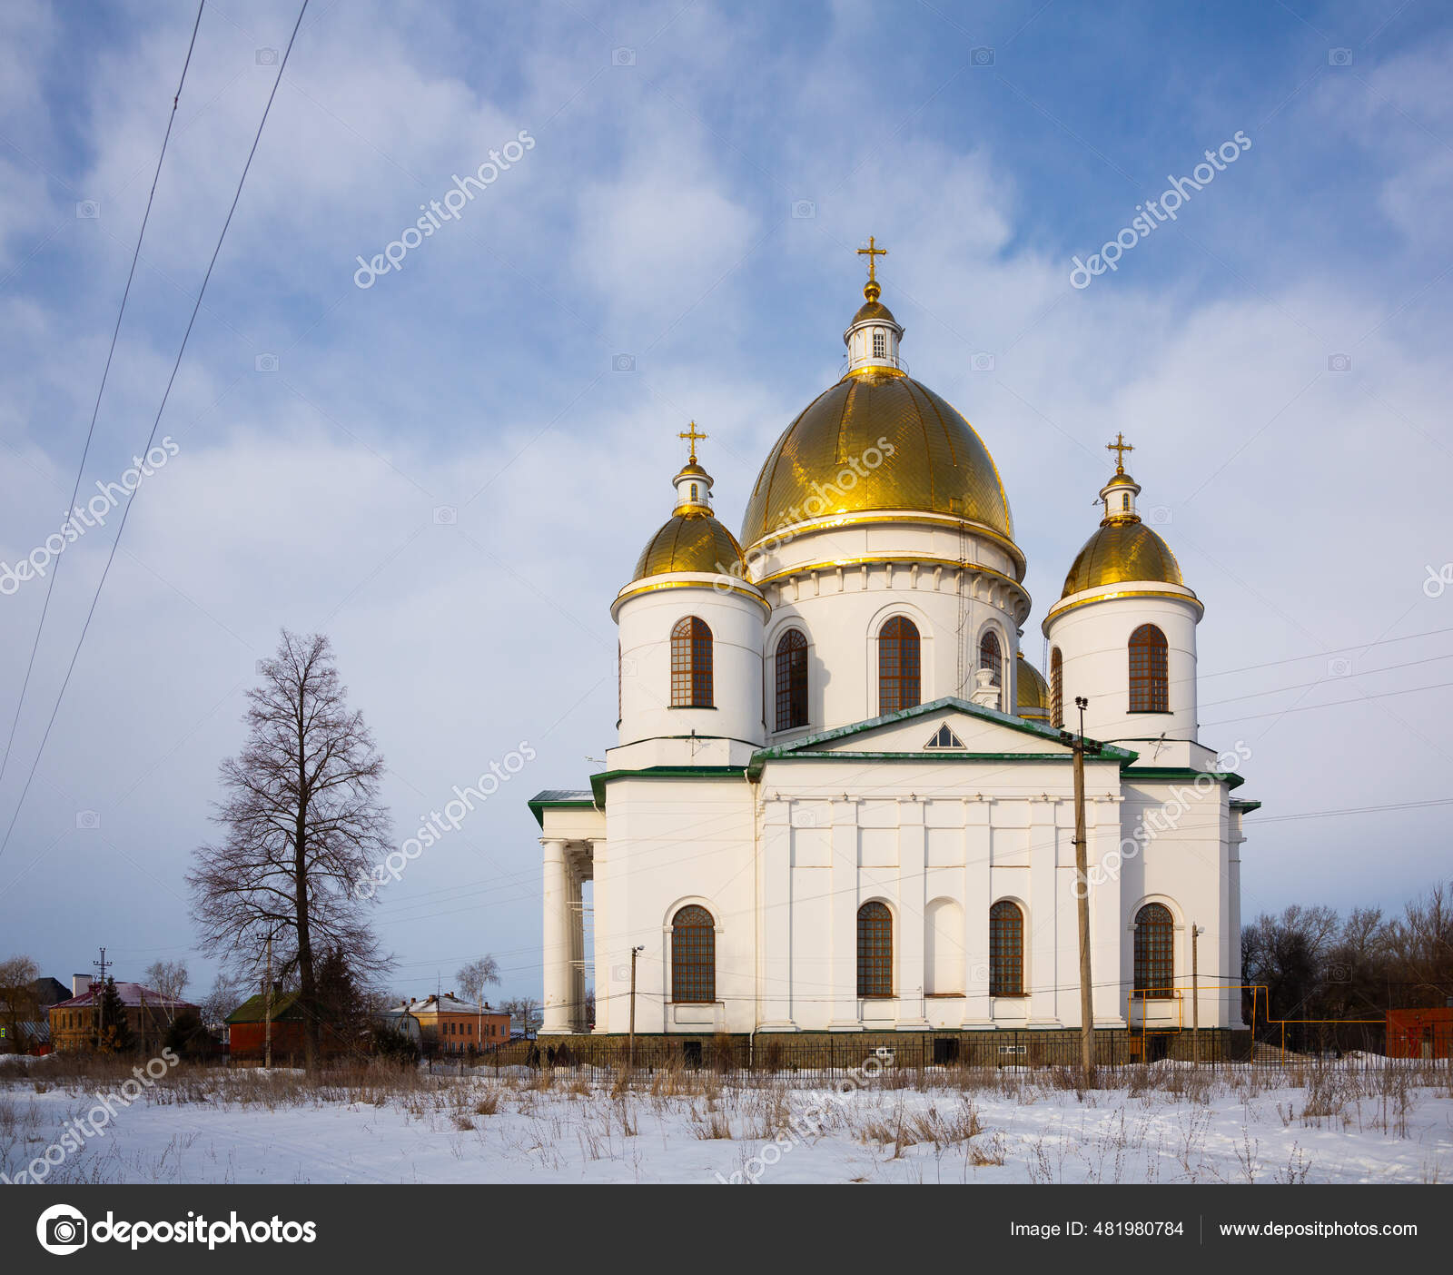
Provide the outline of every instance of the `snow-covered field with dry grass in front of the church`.
<path id="1" fill-rule="evenodd" d="M 834 1095 L 708 1073 L 452 1078 L 177 1069 L 0 1073 L 0 1172 L 74 1182 L 1436 1182 L 1453 1075 L 1161 1063 L 1067 1076 L 892 1073 Z M 134 1091 L 132 1091 L 134 1092 Z M 97 1095 L 112 1098 L 115 1114 Z M 118 1095 L 121 1101 L 118 1101 Z M 49 1163 L 45 1156 L 49 1152 Z"/>

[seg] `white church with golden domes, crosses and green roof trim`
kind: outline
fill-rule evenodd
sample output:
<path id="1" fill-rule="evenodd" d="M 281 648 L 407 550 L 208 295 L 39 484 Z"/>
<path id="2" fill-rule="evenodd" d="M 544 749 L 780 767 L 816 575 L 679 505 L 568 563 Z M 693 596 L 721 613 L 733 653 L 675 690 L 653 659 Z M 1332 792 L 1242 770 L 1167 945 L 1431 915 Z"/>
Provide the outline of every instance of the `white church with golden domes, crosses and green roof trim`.
<path id="1" fill-rule="evenodd" d="M 994 460 L 905 372 L 882 250 L 862 251 L 844 373 L 777 439 L 740 536 L 705 434 L 683 434 L 674 507 L 612 606 L 619 742 L 587 789 L 530 802 L 541 1034 L 1068 1035 L 1082 892 L 1096 1028 L 1239 1028 L 1258 803 L 1234 796 L 1241 758 L 1197 738 L 1203 607 L 1138 513 L 1132 449 L 1112 444 L 1103 516 L 1040 624 L 1046 680 Z"/>

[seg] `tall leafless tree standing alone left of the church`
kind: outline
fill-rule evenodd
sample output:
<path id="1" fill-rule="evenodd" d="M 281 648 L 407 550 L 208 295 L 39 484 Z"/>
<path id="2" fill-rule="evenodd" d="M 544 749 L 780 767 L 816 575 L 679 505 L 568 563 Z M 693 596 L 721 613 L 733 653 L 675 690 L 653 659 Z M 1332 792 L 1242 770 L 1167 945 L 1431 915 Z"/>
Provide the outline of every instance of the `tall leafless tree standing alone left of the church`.
<path id="1" fill-rule="evenodd" d="M 282 633 L 247 693 L 247 744 L 221 767 L 227 793 L 214 822 L 218 844 L 196 851 L 187 874 L 202 947 L 238 970 L 263 964 L 298 976 L 307 1032 L 304 1064 L 321 1047 L 315 953 L 337 950 L 359 974 L 389 961 L 356 889 L 389 850 L 391 819 L 379 803 L 384 758 L 363 716 L 347 707 L 333 648 L 320 633 Z"/>

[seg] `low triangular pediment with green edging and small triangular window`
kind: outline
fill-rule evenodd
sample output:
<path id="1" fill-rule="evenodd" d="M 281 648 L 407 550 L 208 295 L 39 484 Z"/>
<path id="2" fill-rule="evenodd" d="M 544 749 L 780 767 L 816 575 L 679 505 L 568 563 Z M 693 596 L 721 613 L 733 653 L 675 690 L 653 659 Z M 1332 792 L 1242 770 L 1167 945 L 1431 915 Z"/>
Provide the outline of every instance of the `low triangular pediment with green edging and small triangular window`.
<path id="1" fill-rule="evenodd" d="M 753 758 L 760 768 L 767 761 L 824 755 L 921 755 L 946 761 L 985 757 L 1067 757 L 1069 742 L 1059 730 L 1023 717 L 1011 717 L 968 700 L 944 697 L 898 713 L 872 717 L 853 726 L 840 726 L 764 748 Z M 1103 745 L 1101 759 L 1129 761 L 1133 752 Z"/>

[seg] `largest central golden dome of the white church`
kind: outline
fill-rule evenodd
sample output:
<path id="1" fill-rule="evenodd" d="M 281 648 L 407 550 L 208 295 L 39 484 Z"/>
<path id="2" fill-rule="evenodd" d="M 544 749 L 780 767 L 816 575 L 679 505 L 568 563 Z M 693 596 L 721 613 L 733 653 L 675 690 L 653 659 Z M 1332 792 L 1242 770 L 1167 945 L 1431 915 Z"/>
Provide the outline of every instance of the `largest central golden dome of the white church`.
<path id="1" fill-rule="evenodd" d="M 844 471 L 849 481 L 840 482 Z M 741 542 L 750 546 L 793 523 L 869 510 L 979 523 L 1008 542 L 1023 574 L 1004 484 L 984 441 L 944 399 L 894 367 L 849 373 L 788 425 L 757 475 Z"/>

